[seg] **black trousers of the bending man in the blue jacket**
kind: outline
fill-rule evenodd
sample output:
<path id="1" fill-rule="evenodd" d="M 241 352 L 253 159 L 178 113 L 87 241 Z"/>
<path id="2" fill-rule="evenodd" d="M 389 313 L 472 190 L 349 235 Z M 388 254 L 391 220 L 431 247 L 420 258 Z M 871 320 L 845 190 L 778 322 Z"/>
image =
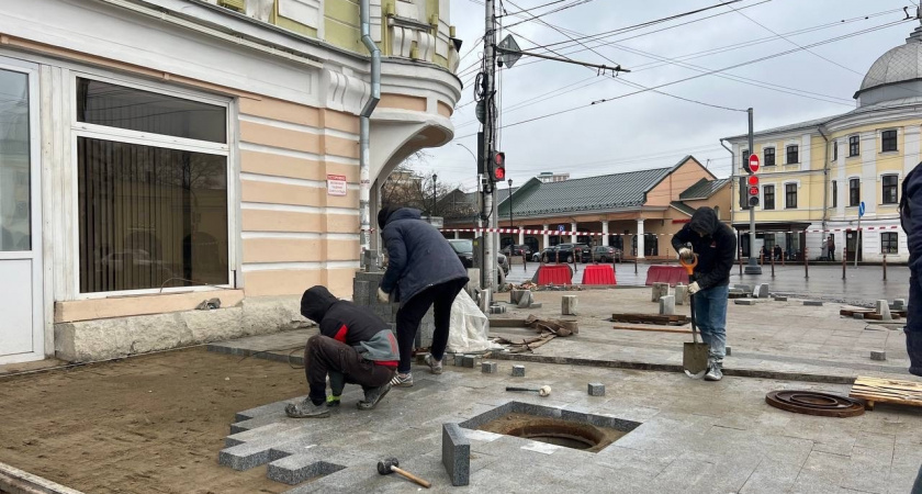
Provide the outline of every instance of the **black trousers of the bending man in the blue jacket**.
<path id="1" fill-rule="evenodd" d="M 451 326 L 451 304 L 461 289 L 468 284 L 466 280 L 451 280 L 445 283 L 434 284 L 408 300 L 397 311 L 397 347 L 401 350 L 401 363 L 397 371 L 409 372 L 409 363 L 413 357 L 413 341 L 419 330 L 419 322 L 432 307 L 436 332 L 432 334 L 432 348 L 430 353 L 436 360 L 445 357 L 445 347 L 448 345 L 448 330 Z"/>

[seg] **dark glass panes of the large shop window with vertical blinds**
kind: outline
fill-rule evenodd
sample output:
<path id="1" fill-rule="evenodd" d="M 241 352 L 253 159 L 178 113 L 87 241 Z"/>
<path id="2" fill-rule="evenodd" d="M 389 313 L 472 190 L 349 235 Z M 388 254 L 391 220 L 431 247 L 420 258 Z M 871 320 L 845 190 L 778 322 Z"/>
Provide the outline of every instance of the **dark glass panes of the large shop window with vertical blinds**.
<path id="1" fill-rule="evenodd" d="M 227 151 L 162 144 L 226 143 L 226 108 L 87 79 L 77 108 L 117 127 L 77 138 L 80 292 L 226 284 Z M 119 128 L 158 135 L 137 144 Z"/>

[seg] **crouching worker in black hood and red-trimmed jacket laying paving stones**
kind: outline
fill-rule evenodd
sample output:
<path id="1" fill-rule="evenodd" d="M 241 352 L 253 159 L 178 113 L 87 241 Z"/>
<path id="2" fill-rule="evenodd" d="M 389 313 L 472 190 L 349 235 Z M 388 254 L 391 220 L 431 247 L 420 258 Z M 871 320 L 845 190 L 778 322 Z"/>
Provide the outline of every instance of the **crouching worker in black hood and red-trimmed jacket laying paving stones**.
<path id="1" fill-rule="evenodd" d="M 285 414 L 295 418 L 329 416 L 328 406 L 339 405 L 346 383 L 360 384 L 364 390 L 359 409 L 374 408 L 390 391 L 400 360 L 397 340 L 387 323 L 368 308 L 337 299 L 325 287 L 304 292 L 301 314 L 317 323 L 321 334 L 312 336 L 304 349 L 311 393 L 302 403 L 289 404 Z M 327 375 L 333 388 L 329 397 Z"/>

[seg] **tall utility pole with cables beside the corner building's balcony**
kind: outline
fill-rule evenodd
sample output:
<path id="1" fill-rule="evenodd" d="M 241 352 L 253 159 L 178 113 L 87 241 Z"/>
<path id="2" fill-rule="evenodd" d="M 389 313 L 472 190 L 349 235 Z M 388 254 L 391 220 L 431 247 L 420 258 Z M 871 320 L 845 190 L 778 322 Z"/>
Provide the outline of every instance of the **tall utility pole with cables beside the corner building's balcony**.
<path id="1" fill-rule="evenodd" d="M 483 212 L 482 215 L 486 220 L 487 228 L 496 227 L 496 211 L 495 191 L 496 184 L 490 170 L 492 170 L 493 156 L 495 154 L 496 142 L 496 105 L 494 102 L 494 93 L 496 92 L 496 20 L 495 20 L 495 4 L 494 0 L 484 1 L 484 36 L 483 36 L 483 53 L 484 53 L 484 74 L 483 87 L 480 88 L 483 94 L 484 102 L 484 121 L 483 121 L 483 146 L 481 146 L 483 155 L 480 157 L 483 162 L 483 169 L 487 176 L 484 181 L 483 194 Z M 484 276 L 484 294 L 485 301 L 482 302 L 482 308 L 488 307 L 493 299 L 493 288 L 496 285 L 496 257 L 497 249 L 494 243 L 494 233 L 484 233 L 483 243 L 483 269 L 486 271 Z"/>

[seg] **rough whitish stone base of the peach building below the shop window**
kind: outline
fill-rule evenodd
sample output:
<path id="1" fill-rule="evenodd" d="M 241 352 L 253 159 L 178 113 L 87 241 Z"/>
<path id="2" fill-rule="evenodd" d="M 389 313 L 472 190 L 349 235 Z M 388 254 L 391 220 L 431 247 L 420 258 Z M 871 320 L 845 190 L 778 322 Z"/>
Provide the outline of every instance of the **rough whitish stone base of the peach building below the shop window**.
<path id="1" fill-rule="evenodd" d="M 187 311 L 55 324 L 55 357 L 89 362 L 311 325 L 300 296 L 245 299 L 214 311 Z"/>

